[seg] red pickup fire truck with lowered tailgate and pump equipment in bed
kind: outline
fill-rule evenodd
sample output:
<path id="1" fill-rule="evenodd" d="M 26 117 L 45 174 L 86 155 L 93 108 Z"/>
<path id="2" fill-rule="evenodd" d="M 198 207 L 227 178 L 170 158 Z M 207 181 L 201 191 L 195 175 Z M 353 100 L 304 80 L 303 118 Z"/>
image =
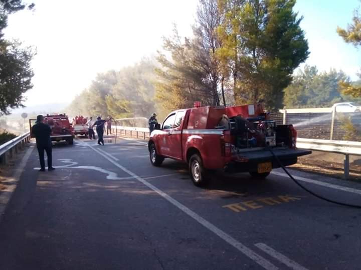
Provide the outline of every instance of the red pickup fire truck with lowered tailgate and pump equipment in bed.
<path id="1" fill-rule="evenodd" d="M 294 127 L 269 120 L 262 103 L 179 109 L 159 128 L 150 134 L 150 162 L 159 166 L 166 157 L 187 162 L 197 186 L 207 184 L 214 169 L 265 178 L 280 167 L 268 147 L 283 165 L 311 153 L 296 148 Z"/>

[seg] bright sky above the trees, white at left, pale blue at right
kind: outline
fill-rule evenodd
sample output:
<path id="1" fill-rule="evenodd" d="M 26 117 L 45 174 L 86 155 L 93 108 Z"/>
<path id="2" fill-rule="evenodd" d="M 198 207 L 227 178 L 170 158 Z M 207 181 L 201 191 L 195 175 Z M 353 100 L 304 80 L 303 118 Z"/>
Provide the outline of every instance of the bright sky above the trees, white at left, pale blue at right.
<path id="1" fill-rule="evenodd" d="M 27 106 L 70 103 L 99 72 L 120 69 L 161 49 L 162 36 L 176 23 L 192 35 L 198 0 L 33 0 L 33 11 L 9 17 L 6 37 L 37 48 L 32 61 L 34 88 Z M 298 0 L 294 10 L 309 42 L 306 63 L 319 70 L 342 69 L 357 79 L 361 53 L 343 42 L 358 0 Z M 301 65 L 302 67 L 303 65 Z"/>

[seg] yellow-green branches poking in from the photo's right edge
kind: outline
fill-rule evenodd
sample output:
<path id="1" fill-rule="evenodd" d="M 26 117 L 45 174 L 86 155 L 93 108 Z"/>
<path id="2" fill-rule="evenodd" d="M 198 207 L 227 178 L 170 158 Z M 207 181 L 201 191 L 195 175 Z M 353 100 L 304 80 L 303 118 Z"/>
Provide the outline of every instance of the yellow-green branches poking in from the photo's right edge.
<path id="1" fill-rule="evenodd" d="M 337 33 L 347 43 L 353 44 L 355 47 L 361 45 L 361 17 L 359 9 L 355 9 L 353 12 L 352 23 L 347 25 L 347 29 L 337 27 Z M 361 78 L 361 75 L 359 74 Z M 357 86 L 347 81 L 340 81 L 339 86 L 341 91 L 345 95 L 352 97 L 361 97 L 361 86 Z"/>

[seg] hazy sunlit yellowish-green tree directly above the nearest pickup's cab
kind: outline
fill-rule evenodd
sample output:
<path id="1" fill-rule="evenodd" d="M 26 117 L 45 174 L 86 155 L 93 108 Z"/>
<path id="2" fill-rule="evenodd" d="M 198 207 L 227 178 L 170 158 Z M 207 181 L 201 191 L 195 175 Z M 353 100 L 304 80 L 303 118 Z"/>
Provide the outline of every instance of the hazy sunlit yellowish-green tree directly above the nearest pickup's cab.
<path id="1" fill-rule="evenodd" d="M 199 52 L 195 51 L 196 42 L 187 38 L 182 42 L 175 28 L 173 36 L 164 38 L 163 49 L 169 52 L 171 59 L 163 53 L 158 54 L 161 67 L 156 68 L 158 79 L 155 88 L 156 100 L 166 110 L 190 107 L 195 100 L 202 100 L 205 105 L 213 104 L 212 85 L 208 83 L 207 72 L 195 64 L 195 55 Z"/>

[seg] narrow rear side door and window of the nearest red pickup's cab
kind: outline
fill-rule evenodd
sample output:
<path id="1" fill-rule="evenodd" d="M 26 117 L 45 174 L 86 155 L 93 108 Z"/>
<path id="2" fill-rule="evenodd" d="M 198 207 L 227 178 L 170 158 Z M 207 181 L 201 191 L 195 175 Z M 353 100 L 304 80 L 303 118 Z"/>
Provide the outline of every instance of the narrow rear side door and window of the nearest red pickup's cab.
<path id="1" fill-rule="evenodd" d="M 173 128 L 170 129 L 168 135 L 169 155 L 176 159 L 182 159 L 182 122 L 184 116 L 185 111 L 177 111 Z"/>

